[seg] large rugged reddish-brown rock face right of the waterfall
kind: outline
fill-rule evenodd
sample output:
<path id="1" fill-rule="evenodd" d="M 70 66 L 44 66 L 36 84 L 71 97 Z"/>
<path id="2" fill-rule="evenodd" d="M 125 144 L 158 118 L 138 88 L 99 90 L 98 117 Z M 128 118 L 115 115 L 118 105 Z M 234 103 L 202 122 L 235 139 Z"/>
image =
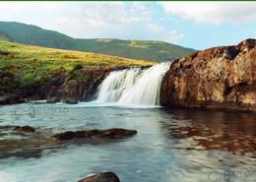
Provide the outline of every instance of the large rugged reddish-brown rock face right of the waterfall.
<path id="1" fill-rule="evenodd" d="M 256 110 L 256 39 L 175 60 L 160 91 L 164 106 Z"/>

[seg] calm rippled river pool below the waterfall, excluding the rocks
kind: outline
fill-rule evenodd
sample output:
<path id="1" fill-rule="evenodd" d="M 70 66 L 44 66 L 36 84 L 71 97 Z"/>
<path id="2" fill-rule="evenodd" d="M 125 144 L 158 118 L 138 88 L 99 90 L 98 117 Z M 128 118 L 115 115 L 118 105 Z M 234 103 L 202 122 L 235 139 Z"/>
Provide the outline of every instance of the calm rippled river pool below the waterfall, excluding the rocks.
<path id="1" fill-rule="evenodd" d="M 0 126 L 6 125 L 37 132 L 0 128 L 1 182 L 76 182 L 103 170 L 122 182 L 256 181 L 255 113 L 26 103 L 0 107 Z M 138 135 L 50 139 L 67 130 L 112 127 Z"/>

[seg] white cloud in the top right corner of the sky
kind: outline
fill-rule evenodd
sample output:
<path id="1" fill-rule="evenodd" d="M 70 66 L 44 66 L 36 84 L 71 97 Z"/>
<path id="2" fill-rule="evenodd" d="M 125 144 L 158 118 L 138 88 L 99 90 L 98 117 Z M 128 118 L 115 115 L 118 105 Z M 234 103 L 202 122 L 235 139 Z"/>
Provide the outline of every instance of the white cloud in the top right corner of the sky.
<path id="1" fill-rule="evenodd" d="M 242 24 L 256 20 L 256 2 L 161 2 L 165 12 L 201 24 Z"/>

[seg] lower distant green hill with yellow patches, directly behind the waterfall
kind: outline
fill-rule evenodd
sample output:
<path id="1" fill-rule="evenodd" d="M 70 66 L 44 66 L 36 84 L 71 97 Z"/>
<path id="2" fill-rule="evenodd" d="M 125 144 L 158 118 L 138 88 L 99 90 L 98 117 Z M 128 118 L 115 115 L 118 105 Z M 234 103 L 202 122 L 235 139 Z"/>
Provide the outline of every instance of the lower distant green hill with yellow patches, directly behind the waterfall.
<path id="1" fill-rule="evenodd" d="M 173 60 L 194 52 L 192 49 L 153 40 L 78 39 L 77 41 L 78 50 L 156 62 Z"/>

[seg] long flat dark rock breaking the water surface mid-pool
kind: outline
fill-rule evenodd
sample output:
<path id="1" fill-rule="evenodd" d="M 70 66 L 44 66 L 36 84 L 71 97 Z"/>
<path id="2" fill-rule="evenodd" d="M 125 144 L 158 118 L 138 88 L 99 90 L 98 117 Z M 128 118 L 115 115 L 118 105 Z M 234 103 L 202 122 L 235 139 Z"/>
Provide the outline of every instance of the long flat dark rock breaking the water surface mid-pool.
<path id="1" fill-rule="evenodd" d="M 126 130 L 120 128 L 106 129 L 106 130 L 82 130 L 82 131 L 67 131 L 64 133 L 56 134 L 53 138 L 64 141 L 71 139 L 122 139 L 132 137 L 137 134 L 136 130 Z"/>

